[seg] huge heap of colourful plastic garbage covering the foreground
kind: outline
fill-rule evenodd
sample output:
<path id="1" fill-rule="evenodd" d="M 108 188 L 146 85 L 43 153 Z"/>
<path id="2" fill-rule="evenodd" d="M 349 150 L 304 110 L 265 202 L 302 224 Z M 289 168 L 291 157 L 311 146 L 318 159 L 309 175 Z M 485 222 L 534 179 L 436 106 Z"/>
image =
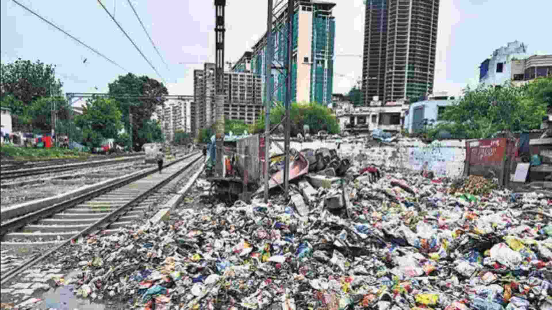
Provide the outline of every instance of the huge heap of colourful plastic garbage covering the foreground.
<path id="1" fill-rule="evenodd" d="M 316 189 L 306 211 L 299 184 L 288 204 L 88 237 L 66 284 L 143 309 L 552 309 L 551 197 L 453 196 L 446 179 L 381 172 Z"/>

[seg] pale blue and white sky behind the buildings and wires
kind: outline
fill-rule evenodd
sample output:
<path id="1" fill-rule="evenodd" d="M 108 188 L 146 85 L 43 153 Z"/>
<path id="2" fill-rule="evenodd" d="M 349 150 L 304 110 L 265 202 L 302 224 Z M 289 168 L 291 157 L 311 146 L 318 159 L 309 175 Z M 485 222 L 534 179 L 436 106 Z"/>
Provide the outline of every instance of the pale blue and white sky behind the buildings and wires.
<path id="1" fill-rule="evenodd" d="M 55 64 L 64 92 L 107 92 L 109 82 L 132 72 L 166 82 L 171 94 L 193 94 L 193 70 L 215 59 L 213 0 L 131 0 L 169 70 L 127 0 L 102 1 L 163 79 L 97 1 L 18 1 L 126 69 L 123 71 L 95 55 L 12 0 L 0 0 L 2 62 L 20 57 Z M 335 54 L 360 56 L 363 0 L 335 2 Z M 262 36 L 266 12 L 263 0 L 227 0 L 225 61 L 236 61 Z M 479 63 L 509 41 L 524 42 L 528 56 L 552 54 L 550 12 L 550 0 L 441 0 L 434 90 L 459 93 L 466 84 L 475 82 Z M 83 63 L 85 58 L 87 61 Z M 335 72 L 339 75 L 334 77 L 333 92 L 347 92 L 362 74 L 362 58 L 336 57 Z"/>

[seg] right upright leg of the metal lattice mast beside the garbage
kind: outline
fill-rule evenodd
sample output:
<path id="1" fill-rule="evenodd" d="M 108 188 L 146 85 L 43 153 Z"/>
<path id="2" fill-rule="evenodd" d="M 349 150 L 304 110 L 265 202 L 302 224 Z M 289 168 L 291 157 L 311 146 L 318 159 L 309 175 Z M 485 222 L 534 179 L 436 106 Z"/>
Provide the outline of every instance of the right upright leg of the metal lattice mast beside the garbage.
<path id="1" fill-rule="evenodd" d="M 288 1 L 288 48 L 286 50 L 287 63 L 286 67 L 286 76 L 285 76 L 285 130 L 284 130 L 284 193 L 285 197 L 289 197 L 289 133 L 291 130 L 291 120 L 289 119 L 289 110 L 291 108 L 291 63 L 293 62 L 293 57 L 291 52 L 293 52 L 293 13 L 295 11 L 295 1 Z"/>

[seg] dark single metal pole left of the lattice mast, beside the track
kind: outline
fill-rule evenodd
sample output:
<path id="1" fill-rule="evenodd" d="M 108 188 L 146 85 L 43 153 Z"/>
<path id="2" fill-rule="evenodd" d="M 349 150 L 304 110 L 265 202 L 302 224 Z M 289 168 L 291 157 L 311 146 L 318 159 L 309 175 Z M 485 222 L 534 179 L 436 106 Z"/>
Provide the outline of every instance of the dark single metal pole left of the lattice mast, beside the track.
<path id="1" fill-rule="evenodd" d="M 216 106 L 216 163 L 215 171 L 222 175 L 224 146 L 224 7 L 226 0 L 215 0 L 215 106 Z"/>

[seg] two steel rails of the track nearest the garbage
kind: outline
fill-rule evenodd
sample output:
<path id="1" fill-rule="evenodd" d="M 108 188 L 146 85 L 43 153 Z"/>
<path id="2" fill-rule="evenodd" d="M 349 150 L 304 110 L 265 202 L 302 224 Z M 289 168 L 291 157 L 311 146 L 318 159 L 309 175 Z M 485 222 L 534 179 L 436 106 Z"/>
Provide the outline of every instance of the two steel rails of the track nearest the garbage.
<path id="1" fill-rule="evenodd" d="M 193 153 L 193 154 L 190 154 L 189 156 L 187 157 L 183 157 L 183 158 L 180 158 L 180 159 L 176 159 L 175 161 L 173 162 L 170 162 L 170 163 L 167 163 L 166 165 L 164 165 L 163 167 L 169 167 L 173 164 L 176 164 L 178 162 L 181 162 L 183 161 L 184 159 L 187 159 L 187 158 L 190 158 L 194 155 L 196 155 L 197 153 Z M 100 220 L 98 220 L 97 222 L 95 223 L 92 223 L 91 225 L 89 225 L 87 228 L 83 229 L 82 231 L 76 233 L 74 236 L 72 236 L 71 238 L 69 239 L 66 239 L 64 240 L 63 242 L 61 242 L 59 245 L 57 245 L 57 247 L 49 250 L 48 252 L 46 252 L 45 254 L 39 256 L 38 258 L 31 258 L 29 259 L 28 261 L 26 261 L 25 263 L 23 263 L 22 265 L 18 266 L 17 268 L 14 268 L 10 271 L 8 271 L 6 274 L 2 275 L 2 280 L 0 282 L 0 285 L 3 285 L 3 284 L 6 284 L 6 282 L 8 282 L 9 280 L 11 280 L 14 276 L 18 275 L 20 272 L 22 272 L 23 270 L 29 268 L 30 266 L 33 266 L 35 265 L 36 263 L 38 263 L 39 261 L 47 258 L 48 256 L 50 256 L 52 253 L 56 252 L 57 250 L 61 249 L 62 247 L 64 247 L 67 243 L 70 243 L 71 240 L 75 240 L 77 239 L 78 237 L 81 237 L 83 234 L 87 234 L 91 231 L 94 231 L 94 230 L 97 230 L 98 228 L 104 228 L 104 227 L 107 227 L 110 225 L 111 222 L 115 221 L 120 215 L 121 213 L 124 213 L 126 211 L 126 209 L 129 209 L 131 206 L 134 206 L 137 202 L 139 202 L 140 200 L 144 199 L 145 196 L 148 196 L 151 194 L 152 191 L 155 191 L 157 190 L 158 188 L 160 188 L 161 186 L 167 184 L 169 181 L 171 181 L 172 179 L 176 178 L 177 175 L 181 174 L 184 170 L 188 169 L 191 165 L 193 165 L 195 162 L 197 162 L 200 158 L 202 158 L 203 155 L 202 154 L 199 154 L 199 156 L 197 156 L 197 158 L 194 158 L 192 161 L 190 161 L 187 165 L 185 165 L 182 169 L 179 169 L 176 173 L 174 173 L 173 175 L 171 175 L 171 177 L 168 177 L 167 179 L 164 179 L 162 180 L 160 183 L 156 184 L 155 186 L 153 186 L 152 188 L 148 189 L 145 193 L 142 193 L 138 196 L 136 196 L 134 199 L 132 199 L 131 201 L 127 202 L 126 204 L 124 204 L 123 206 L 120 206 L 119 208 L 117 208 L 116 210 L 108 213 L 108 215 L 104 216 L 103 218 L 101 218 Z M 56 204 L 54 206 L 50 206 L 50 207 L 46 207 L 45 209 L 43 210 L 39 210 L 39 211 L 36 211 L 36 212 L 33 212 L 31 213 L 30 215 L 26 215 L 24 217 L 21 217 L 21 218 L 18 218 L 14 221 L 10 221 L 10 222 L 15 222 L 15 221 L 20 221 L 21 223 L 23 223 L 23 225 L 15 225 L 14 223 L 10 223 L 10 226 L 12 227 L 15 227 L 15 226 L 19 226 L 19 227 L 22 227 L 22 226 L 25 226 L 26 224 L 30 223 L 30 222 L 33 222 L 34 220 L 31 220 L 32 218 L 36 218 L 37 216 L 41 214 L 41 216 L 45 217 L 45 216 L 50 216 L 52 214 L 55 214 L 59 211 L 55 211 L 55 210 L 65 210 L 67 209 L 68 207 L 72 206 L 72 205 L 75 205 L 75 201 L 82 201 L 83 199 L 86 200 L 86 199 L 90 199 L 91 196 L 98 196 L 98 195 L 101 195 L 103 194 L 104 192 L 106 191 L 110 191 L 110 190 L 113 190 L 114 188 L 119 188 L 120 186 L 124 186 L 124 185 L 127 185 L 127 184 L 130 184 L 132 183 L 133 181 L 136 181 L 136 180 L 139 180 L 141 178 L 144 178 L 144 177 L 147 177 L 147 175 L 150 175 L 152 173 L 155 173 L 157 171 L 157 168 L 151 168 L 151 169 L 148 169 L 146 172 L 144 173 L 140 173 L 140 174 L 137 174 L 137 175 L 133 175 L 132 177 L 129 177 L 128 179 L 124 179 L 124 180 L 121 180 L 119 181 L 118 183 L 116 184 L 112 184 L 112 185 L 109 185 L 109 186 L 104 186 L 103 188 L 100 188 L 98 190 L 94 190 L 90 193 L 87 193 L 87 194 L 84 194 L 84 195 L 81 195 L 81 196 L 78 196 L 76 197 L 75 199 L 71 199 L 71 200 L 68 200 L 68 201 L 64 201 L 64 202 L 61 202 L 60 204 Z M 83 197 L 83 196 L 86 196 L 86 197 Z M 113 221 L 111 221 L 113 220 Z M 8 225 L 8 223 L 6 223 L 5 225 Z M 6 231 L 6 229 L 3 228 L 4 225 L 2 225 L 2 228 L 0 228 L 2 231 Z M 4 233 L 2 233 L 3 235 Z"/>

